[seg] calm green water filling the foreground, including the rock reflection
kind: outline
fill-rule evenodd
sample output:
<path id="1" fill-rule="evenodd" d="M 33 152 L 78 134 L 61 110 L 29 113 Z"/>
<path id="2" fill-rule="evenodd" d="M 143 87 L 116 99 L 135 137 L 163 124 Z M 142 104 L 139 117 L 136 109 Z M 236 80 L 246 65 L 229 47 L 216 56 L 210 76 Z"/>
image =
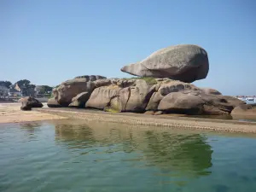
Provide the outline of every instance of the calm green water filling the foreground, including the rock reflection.
<path id="1" fill-rule="evenodd" d="M 256 191 L 256 139 L 146 126 L 0 125 L 1 192 Z"/>

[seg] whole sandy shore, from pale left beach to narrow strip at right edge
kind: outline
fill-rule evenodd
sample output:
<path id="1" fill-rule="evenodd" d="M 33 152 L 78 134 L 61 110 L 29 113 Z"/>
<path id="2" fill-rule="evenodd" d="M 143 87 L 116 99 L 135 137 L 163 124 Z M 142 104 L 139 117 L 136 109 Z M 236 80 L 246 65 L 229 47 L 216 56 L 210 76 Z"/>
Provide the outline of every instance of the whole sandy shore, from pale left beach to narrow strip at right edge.
<path id="1" fill-rule="evenodd" d="M 207 130 L 256 133 L 256 123 L 238 120 L 202 119 L 141 113 L 106 113 L 75 108 L 33 108 L 21 111 L 20 103 L 0 103 L 0 123 L 20 123 L 49 119 L 84 119 L 87 121 L 113 122 L 129 125 L 154 125 L 182 130 Z"/>

